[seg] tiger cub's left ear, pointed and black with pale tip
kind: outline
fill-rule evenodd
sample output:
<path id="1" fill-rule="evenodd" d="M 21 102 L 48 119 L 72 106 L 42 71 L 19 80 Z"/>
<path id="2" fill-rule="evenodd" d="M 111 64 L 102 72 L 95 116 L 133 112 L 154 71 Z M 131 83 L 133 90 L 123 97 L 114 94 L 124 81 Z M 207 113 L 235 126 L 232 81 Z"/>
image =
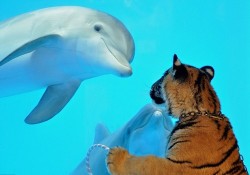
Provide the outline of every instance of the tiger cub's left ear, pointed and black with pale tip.
<path id="1" fill-rule="evenodd" d="M 188 76 L 186 67 L 181 63 L 181 61 L 179 60 L 176 54 L 174 54 L 174 58 L 173 58 L 172 74 L 175 79 L 179 79 L 182 81 L 185 80 Z"/>

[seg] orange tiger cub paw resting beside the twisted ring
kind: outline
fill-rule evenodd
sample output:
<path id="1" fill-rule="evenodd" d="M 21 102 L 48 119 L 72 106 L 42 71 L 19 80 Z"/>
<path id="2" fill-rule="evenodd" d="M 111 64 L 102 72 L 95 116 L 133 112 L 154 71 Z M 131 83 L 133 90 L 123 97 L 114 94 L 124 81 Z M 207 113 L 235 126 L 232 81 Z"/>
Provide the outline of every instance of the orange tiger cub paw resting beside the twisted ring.
<path id="1" fill-rule="evenodd" d="M 130 157 L 127 150 L 121 147 L 110 149 L 107 155 L 107 167 L 109 173 L 112 175 L 125 174 L 125 161 Z"/>

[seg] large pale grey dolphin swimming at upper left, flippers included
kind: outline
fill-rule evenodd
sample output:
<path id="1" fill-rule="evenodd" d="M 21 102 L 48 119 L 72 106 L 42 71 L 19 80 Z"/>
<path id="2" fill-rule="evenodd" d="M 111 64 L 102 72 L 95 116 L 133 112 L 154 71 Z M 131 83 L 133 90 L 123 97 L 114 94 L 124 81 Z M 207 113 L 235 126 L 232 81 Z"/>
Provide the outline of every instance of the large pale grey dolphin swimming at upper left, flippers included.
<path id="1" fill-rule="evenodd" d="M 0 97 L 47 87 L 25 119 L 49 120 L 81 82 L 130 76 L 134 41 L 116 18 L 83 7 L 53 7 L 0 23 Z"/>

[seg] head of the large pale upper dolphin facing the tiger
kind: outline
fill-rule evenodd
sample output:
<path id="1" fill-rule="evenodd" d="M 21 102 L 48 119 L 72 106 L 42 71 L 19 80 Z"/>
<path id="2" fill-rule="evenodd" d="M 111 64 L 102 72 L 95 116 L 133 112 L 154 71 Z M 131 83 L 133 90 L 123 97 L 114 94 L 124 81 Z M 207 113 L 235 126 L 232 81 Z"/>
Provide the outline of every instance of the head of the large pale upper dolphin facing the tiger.
<path id="1" fill-rule="evenodd" d="M 88 57 L 91 73 L 130 76 L 135 45 L 127 28 L 111 15 L 94 10 L 87 12 L 76 46 L 84 64 Z M 84 11 L 85 16 L 87 12 Z"/>

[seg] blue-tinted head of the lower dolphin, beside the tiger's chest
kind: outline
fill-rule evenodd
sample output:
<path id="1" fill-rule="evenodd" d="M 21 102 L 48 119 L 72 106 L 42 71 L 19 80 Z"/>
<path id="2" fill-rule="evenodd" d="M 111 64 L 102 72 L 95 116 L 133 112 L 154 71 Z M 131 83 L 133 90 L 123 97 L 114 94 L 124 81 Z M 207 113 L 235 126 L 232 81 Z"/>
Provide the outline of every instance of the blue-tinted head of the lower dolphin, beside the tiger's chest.
<path id="1" fill-rule="evenodd" d="M 154 154 L 164 157 L 167 137 L 172 128 L 173 122 L 166 110 L 161 106 L 148 104 L 128 124 L 127 149 L 134 155 Z"/>

